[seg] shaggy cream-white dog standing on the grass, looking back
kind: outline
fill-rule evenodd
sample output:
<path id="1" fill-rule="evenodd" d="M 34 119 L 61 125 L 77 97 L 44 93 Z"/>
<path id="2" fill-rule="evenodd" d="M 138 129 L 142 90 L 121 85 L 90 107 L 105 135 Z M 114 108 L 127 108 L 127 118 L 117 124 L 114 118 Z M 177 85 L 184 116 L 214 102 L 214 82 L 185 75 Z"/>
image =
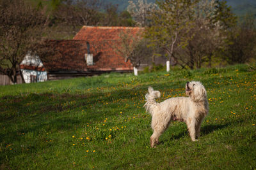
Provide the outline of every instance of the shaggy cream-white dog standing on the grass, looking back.
<path id="1" fill-rule="evenodd" d="M 199 81 L 187 82 L 186 95 L 189 97 L 172 97 L 157 103 L 155 98 L 161 96 L 160 92 L 148 87 L 144 107 L 152 115 L 151 126 L 154 132 L 150 137 L 151 147 L 158 143 L 159 136 L 167 129 L 171 120 L 185 122 L 192 141 L 200 136 L 201 123 L 209 111 L 204 85 Z"/>

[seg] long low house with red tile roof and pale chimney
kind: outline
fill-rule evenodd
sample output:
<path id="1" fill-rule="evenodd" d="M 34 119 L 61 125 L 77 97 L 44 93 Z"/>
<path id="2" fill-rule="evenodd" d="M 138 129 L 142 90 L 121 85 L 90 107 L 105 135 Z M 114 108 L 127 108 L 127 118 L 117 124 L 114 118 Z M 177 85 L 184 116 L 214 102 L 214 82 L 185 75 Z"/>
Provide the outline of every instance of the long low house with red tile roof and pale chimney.
<path id="1" fill-rule="evenodd" d="M 125 62 L 124 57 L 116 53 L 115 46 L 118 46 L 120 42 L 121 33 L 136 36 L 141 30 L 140 27 L 83 26 L 72 40 L 47 42 L 53 52 L 41 57 L 43 66 L 36 67 L 36 69 L 44 69 L 47 72 L 47 80 L 109 72 L 132 72 L 131 62 L 129 60 Z M 35 70 L 32 64 L 22 64 L 20 67 L 24 71 L 31 68 Z"/>

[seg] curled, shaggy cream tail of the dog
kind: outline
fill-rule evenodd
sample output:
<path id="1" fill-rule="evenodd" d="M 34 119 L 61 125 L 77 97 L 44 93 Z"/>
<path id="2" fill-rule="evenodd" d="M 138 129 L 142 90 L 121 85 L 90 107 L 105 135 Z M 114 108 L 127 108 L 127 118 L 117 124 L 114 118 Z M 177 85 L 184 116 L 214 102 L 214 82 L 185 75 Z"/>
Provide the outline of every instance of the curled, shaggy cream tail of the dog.
<path id="1" fill-rule="evenodd" d="M 161 93 L 157 90 L 154 90 L 152 87 L 148 87 L 148 93 L 146 94 L 146 103 L 144 104 L 144 108 L 148 111 L 151 115 L 154 114 L 154 110 L 157 109 L 159 103 L 156 102 L 156 98 L 159 98 Z"/>

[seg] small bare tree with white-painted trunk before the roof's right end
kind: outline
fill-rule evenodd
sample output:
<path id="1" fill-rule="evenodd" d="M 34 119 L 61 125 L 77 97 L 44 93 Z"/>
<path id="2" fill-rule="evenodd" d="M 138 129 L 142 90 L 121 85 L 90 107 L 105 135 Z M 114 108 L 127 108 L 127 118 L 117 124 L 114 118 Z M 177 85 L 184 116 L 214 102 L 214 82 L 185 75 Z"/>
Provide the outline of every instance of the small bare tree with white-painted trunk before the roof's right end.
<path id="1" fill-rule="evenodd" d="M 134 75 L 138 75 L 138 67 L 146 57 L 151 57 L 152 49 L 148 48 L 148 39 L 142 38 L 142 32 L 132 34 L 126 30 L 120 34 L 120 39 L 115 45 L 118 54 L 124 57 L 125 62 L 131 61 L 134 68 Z"/>

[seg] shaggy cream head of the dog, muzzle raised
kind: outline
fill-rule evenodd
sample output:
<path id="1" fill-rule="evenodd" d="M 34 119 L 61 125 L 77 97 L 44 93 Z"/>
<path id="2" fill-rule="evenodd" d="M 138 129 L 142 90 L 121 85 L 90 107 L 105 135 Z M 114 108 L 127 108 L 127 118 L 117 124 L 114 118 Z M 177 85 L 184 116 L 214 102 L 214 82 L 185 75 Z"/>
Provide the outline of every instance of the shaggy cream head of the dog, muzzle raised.
<path id="1" fill-rule="evenodd" d="M 204 101 L 207 97 L 204 85 L 199 81 L 188 81 L 186 83 L 186 95 L 195 102 Z"/>

